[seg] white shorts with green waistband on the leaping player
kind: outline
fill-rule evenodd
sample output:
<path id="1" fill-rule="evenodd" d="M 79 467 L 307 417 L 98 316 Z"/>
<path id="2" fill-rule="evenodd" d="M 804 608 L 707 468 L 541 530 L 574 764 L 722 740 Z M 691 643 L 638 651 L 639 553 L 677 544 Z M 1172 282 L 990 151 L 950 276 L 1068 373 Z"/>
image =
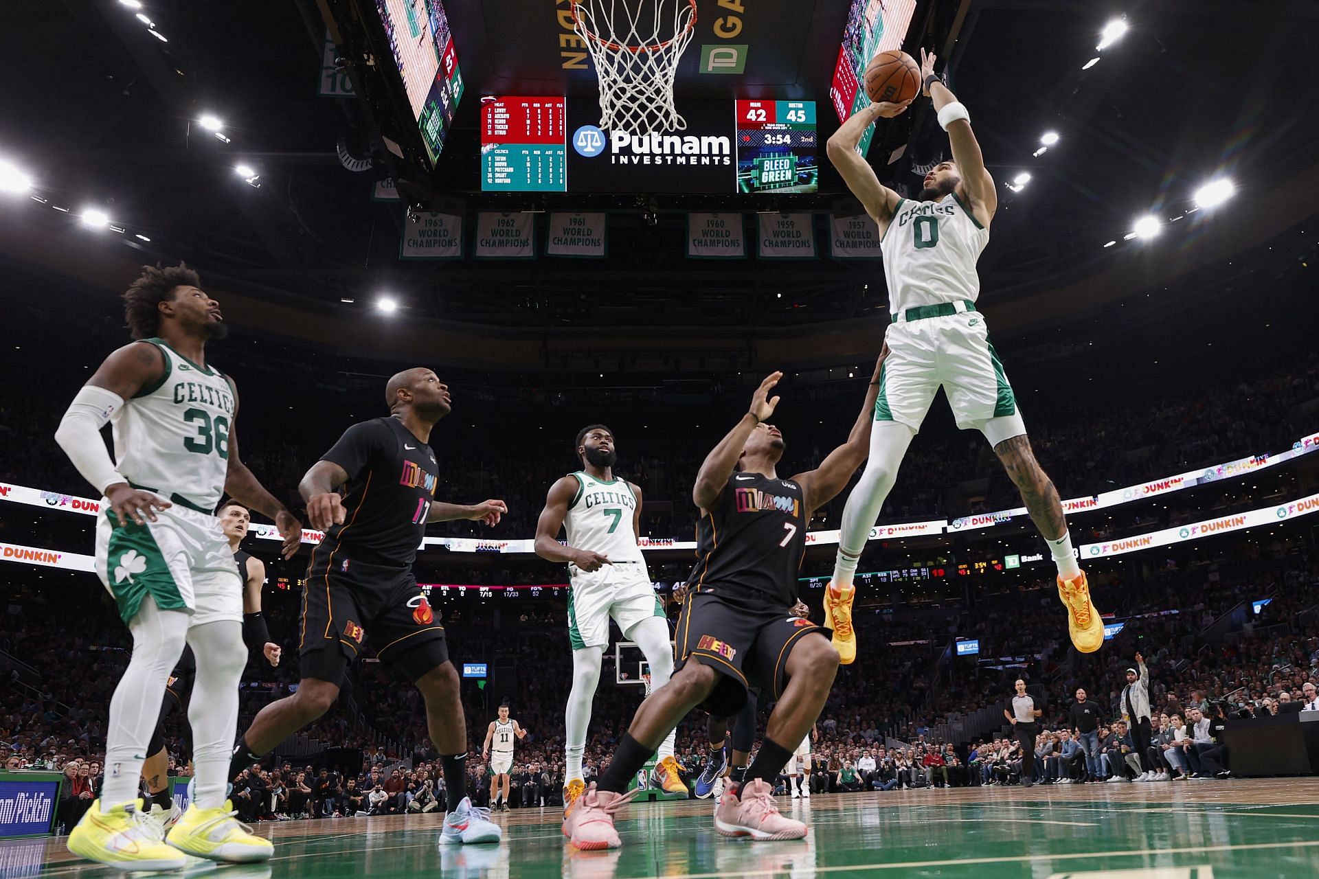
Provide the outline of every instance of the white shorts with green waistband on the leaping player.
<path id="1" fill-rule="evenodd" d="M 1025 434 L 1026 424 L 989 344 L 984 315 L 960 302 L 955 307 L 960 311 L 915 320 L 901 315 L 889 326 L 884 336 L 889 357 L 880 376 L 874 420 L 919 431 L 942 386 L 958 427 L 979 430 L 991 445 L 997 445 Z"/>

